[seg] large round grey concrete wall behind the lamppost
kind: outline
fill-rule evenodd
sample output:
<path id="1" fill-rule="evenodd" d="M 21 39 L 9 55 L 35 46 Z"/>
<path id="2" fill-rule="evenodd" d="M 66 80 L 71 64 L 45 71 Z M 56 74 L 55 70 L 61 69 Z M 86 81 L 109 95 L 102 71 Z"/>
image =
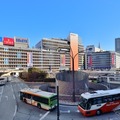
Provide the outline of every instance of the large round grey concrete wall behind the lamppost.
<path id="1" fill-rule="evenodd" d="M 74 72 L 75 80 L 75 94 L 79 95 L 86 90 L 88 86 L 88 74 L 81 71 Z M 72 95 L 73 93 L 73 78 L 71 71 L 64 71 L 58 73 L 56 76 L 59 85 L 60 94 Z"/>

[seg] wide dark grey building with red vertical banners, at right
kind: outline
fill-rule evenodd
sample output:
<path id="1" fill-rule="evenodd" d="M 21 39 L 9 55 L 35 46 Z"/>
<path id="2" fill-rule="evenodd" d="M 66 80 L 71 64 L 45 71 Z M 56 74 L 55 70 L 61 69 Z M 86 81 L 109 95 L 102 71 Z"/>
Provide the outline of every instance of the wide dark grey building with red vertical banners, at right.
<path id="1" fill-rule="evenodd" d="M 120 68 L 120 54 L 112 51 L 88 52 L 85 55 L 85 69 Z"/>

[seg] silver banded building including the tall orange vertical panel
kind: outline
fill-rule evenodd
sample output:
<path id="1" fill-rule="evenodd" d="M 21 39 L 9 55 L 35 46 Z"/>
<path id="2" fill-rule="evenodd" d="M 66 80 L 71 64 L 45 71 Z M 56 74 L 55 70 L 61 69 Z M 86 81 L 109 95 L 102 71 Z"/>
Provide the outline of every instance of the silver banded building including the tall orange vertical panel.
<path id="1" fill-rule="evenodd" d="M 41 50 L 43 69 L 72 70 L 73 65 L 75 71 L 84 68 L 84 46 L 77 34 L 70 33 L 67 39 L 43 38 L 35 47 Z"/>

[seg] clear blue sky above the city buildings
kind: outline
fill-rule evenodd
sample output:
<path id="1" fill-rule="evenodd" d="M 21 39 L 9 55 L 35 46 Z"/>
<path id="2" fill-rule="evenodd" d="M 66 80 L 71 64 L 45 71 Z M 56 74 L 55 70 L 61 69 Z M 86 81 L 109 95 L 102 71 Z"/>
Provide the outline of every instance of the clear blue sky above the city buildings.
<path id="1" fill-rule="evenodd" d="M 77 33 L 82 44 L 115 49 L 120 37 L 120 0 L 0 0 L 0 37 L 67 38 Z"/>

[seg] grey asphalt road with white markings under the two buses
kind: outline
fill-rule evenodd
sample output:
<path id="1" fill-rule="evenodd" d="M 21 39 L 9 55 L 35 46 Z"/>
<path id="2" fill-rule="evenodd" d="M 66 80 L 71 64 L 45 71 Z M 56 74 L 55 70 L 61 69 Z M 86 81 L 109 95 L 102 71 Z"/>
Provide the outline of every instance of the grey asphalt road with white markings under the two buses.
<path id="1" fill-rule="evenodd" d="M 18 78 L 0 86 L 0 120 L 57 120 L 57 112 L 38 109 L 19 99 L 20 89 L 28 87 Z M 60 105 L 60 120 L 120 120 L 120 112 L 84 117 L 77 106 Z"/>

